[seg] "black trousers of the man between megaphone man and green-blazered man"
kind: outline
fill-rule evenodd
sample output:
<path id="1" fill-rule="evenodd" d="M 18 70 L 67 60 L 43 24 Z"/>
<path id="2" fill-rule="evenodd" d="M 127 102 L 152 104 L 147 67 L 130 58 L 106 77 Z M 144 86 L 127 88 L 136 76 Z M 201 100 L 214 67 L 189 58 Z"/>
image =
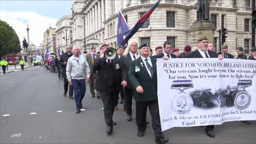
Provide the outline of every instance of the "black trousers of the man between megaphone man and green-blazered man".
<path id="1" fill-rule="evenodd" d="M 132 89 L 125 89 L 124 92 L 124 108 L 127 111 L 127 115 L 131 116 L 132 115 L 132 95 L 133 95 L 133 90 Z M 147 113 L 147 111 L 146 111 Z"/>

